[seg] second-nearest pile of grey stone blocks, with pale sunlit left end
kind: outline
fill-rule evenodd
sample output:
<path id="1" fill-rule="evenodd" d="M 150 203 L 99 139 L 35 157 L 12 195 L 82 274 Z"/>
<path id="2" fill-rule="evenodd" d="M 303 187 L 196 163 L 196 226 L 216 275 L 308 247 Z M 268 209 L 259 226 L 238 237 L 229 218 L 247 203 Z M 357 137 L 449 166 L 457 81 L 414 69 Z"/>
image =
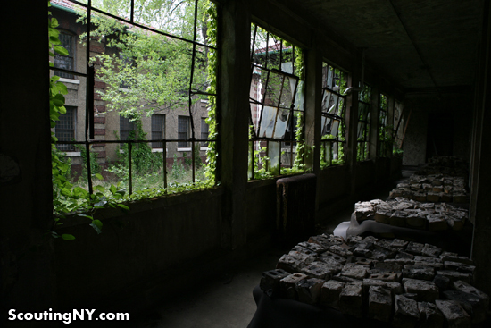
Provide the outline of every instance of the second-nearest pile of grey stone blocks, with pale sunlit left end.
<path id="1" fill-rule="evenodd" d="M 397 227 L 429 231 L 462 230 L 468 210 L 446 203 L 421 203 L 408 198 L 373 199 L 354 205 L 358 223 L 375 220 Z"/>

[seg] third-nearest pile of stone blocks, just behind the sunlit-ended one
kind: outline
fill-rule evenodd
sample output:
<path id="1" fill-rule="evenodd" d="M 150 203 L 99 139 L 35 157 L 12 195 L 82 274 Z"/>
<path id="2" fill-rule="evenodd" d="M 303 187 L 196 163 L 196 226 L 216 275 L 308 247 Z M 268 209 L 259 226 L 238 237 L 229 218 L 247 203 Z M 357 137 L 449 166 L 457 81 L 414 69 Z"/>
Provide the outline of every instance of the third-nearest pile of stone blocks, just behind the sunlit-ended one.
<path id="1" fill-rule="evenodd" d="M 389 198 L 404 197 L 419 202 L 467 203 L 468 192 L 465 178 L 451 177 L 444 174 L 417 175 L 412 174 L 409 181 L 399 183 Z"/>

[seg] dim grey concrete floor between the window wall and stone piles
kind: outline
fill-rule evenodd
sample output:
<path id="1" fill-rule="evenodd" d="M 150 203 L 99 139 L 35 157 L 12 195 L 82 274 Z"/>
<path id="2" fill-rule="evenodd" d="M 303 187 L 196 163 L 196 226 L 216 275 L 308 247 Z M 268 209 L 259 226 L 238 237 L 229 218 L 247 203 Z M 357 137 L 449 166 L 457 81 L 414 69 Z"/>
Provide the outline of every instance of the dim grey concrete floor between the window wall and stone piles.
<path id="1" fill-rule="evenodd" d="M 404 177 L 410 174 L 411 172 L 407 172 Z M 386 199 L 388 192 L 394 186 L 395 184 L 375 192 L 370 199 Z M 353 210 L 354 206 L 345 208 L 329 217 L 317 228 L 320 231 L 332 233 L 339 223 L 350 220 Z M 235 268 L 230 268 L 228 272 L 221 273 L 214 280 L 202 284 L 193 292 L 183 293 L 179 298 L 156 305 L 146 315 L 132 318 L 131 323 L 126 323 L 124 326 L 135 328 L 245 328 L 252 320 L 256 310 L 253 290 L 259 284 L 262 272 L 273 269 L 279 257 L 287 250 L 270 248 L 260 257 L 254 257 Z"/>

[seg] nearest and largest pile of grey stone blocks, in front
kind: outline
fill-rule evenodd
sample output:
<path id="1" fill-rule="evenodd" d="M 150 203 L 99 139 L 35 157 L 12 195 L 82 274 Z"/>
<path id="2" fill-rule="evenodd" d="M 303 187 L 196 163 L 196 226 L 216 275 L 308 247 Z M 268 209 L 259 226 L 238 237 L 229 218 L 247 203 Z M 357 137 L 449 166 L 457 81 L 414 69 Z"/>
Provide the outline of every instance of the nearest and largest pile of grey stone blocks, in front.
<path id="1" fill-rule="evenodd" d="M 429 244 L 313 236 L 262 273 L 268 295 L 395 327 L 469 327 L 486 319 L 489 297 L 472 286 L 468 257 Z"/>

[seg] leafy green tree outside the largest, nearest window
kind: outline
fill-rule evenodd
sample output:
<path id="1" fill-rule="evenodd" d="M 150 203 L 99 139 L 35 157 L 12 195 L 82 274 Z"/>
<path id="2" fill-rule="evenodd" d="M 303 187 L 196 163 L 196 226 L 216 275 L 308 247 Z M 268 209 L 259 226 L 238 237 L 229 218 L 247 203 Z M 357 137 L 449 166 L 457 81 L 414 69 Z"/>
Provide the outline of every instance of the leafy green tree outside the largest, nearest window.
<path id="1" fill-rule="evenodd" d="M 206 44 L 204 13 L 209 1 L 198 1 L 197 5 L 196 41 Z M 130 17 L 129 2 L 96 0 L 94 6 L 125 19 Z M 106 52 L 90 58 L 90 62 L 100 63 L 96 77 L 106 85 L 99 93 L 107 110 L 136 119 L 157 109 L 187 109 L 190 89 L 204 92 L 209 84 L 207 48 L 183 40 L 194 39 L 195 0 L 136 0 L 134 8 L 136 23 L 179 38 L 93 15 L 91 37 L 105 42 Z M 87 22 L 87 13 L 81 13 L 79 21 Z"/>

